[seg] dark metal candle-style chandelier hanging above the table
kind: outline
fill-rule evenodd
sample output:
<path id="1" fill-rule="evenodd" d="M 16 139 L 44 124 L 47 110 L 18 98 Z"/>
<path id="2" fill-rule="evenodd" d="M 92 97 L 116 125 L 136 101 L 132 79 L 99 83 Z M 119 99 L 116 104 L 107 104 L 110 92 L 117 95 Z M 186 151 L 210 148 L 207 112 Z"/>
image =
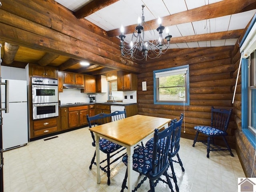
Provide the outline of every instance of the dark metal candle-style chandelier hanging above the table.
<path id="1" fill-rule="evenodd" d="M 132 58 L 132 60 L 143 60 L 144 58 L 159 58 L 164 54 L 170 46 L 169 29 L 166 28 L 165 40 L 163 38 L 164 26 L 161 24 L 161 19 L 158 18 L 159 27 L 156 29 L 159 33 L 159 37 L 156 38 L 155 32 L 145 23 L 144 9 L 145 5 L 142 5 L 142 18 L 138 18 L 138 26 L 136 26 L 130 44 L 124 42 L 126 36 L 124 35 L 124 27 L 121 26 L 121 34 L 119 38 L 121 40 L 120 49 L 124 58 Z"/>

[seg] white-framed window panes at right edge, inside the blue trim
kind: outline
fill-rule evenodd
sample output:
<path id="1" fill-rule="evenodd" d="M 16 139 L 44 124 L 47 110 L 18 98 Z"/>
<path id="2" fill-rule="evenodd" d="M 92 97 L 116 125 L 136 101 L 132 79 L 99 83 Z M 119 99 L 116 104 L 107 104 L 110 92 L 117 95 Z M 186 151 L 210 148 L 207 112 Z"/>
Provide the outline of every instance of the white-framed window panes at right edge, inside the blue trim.
<path id="1" fill-rule="evenodd" d="M 248 66 L 248 129 L 256 136 L 256 52 L 254 51 Z"/>

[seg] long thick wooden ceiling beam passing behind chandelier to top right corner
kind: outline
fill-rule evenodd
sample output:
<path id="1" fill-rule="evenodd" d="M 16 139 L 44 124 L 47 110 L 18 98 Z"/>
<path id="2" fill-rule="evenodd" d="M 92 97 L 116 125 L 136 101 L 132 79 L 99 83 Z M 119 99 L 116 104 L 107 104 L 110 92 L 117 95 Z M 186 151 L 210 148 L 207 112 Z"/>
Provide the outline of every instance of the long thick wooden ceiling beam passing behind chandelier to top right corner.
<path id="1" fill-rule="evenodd" d="M 201 21 L 210 18 L 217 18 L 230 14 L 236 14 L 248 10 L 256 9 L 255 0 L 223 0 L 213 4 L 205 5 L 199 8 L 179 12 L 162 18 L 164 26 L 172 26 L 182 23 Z M 147 21 L 152 29 L 158 27 L 156 20 Z M 137 24 L 124 27 L 125 34 L 132 34 Z M 120 35 L 120 29 L 114 29 L 107 32 L 109 37 Z"/>

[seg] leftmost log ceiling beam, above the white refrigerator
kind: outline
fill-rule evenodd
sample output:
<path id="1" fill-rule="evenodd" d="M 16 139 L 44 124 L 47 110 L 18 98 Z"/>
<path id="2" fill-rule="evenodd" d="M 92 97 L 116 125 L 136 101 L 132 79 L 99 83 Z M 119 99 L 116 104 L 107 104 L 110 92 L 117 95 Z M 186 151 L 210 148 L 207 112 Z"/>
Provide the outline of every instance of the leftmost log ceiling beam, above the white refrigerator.
<path id="1" fill-rule="evenodd" d="M 20 46 L 18 46 L 18 45 L 12 45 L 12 44 L 9 44 L 7 42 L 4 43 L 3 62 L 5 64 L 7 64 L 7 65 L 12 64 L 19 47 Z"/>

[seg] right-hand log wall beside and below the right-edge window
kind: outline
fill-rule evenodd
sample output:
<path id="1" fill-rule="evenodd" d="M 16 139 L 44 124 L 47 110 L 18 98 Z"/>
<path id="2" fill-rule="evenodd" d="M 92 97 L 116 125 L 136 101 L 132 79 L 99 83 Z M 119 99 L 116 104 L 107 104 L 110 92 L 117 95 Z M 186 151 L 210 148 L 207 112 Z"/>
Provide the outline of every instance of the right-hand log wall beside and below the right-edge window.
<path id="1" fill-rule="evenodd" d="M 240 49 L 238 43 L 234 48 L 232 54 L 232 63 L 235 66 L 235 72 L 233 74 L 233 78 L 236 78 L 238 74 L 238 67 L 240 62 Z M 242 132 L 242 97 L 241 97 L 241 71 L 238 77 L 238 88 L 236 90 L 236 97 L 234 100 L 234 121 L 237 126 L 237 130 L 235 131 L 235 139 L 236 139 L 236 153 L 240 159 L 242 167 L 244 169 L 244 173 L 246 177 L 256 177 L 256 167 L 253 166 L 254 163 L 254 156 L 255 156 L 255 149 L 250 144 L 247 137 Z"/>

